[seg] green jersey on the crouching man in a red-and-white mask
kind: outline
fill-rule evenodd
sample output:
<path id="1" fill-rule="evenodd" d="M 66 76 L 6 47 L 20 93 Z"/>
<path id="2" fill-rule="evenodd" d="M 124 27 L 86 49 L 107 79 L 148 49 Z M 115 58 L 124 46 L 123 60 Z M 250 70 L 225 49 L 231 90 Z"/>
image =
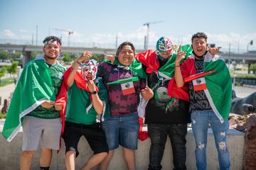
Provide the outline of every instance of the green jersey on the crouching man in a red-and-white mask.
<path id="1" fill-rule="evenodd" d="M 99 89 L 98 95 L 100 100 L 105 104 L 105 112 L 102 113 L 102 116 L 107 118 L 110 114 L 107 89 L 101 79 L 97 79 L 96 85 Z M 83 125 L 96 123 L 97 112 L 93 106 L 90 107 L 90 104 L 92 104 L 92 102 L 90 101 L 89 92 L 79 89 L 74 81 L 68 90 L 68 106 L 65 120 Z"/>

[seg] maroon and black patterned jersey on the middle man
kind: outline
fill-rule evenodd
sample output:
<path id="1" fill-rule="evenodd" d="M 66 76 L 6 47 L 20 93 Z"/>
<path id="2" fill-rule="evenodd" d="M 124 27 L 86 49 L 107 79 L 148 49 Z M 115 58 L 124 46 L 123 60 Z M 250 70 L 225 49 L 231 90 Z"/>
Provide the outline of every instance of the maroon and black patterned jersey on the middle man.
<path id="1" fill-rule="evenodd" d="M 146 80 L 139 78 L 138 81 L 133 81 L 134 90 L 133 94 L 123 95 L 121 84 L 107 84 L 112 81 L 136 77 L 137 75 L 132 72 L 128 67 L 119 67 L 116 64 L 109 64 L 102 62 L 98 66 L 97 75 L 102 77 L 102 80 L 107 87 L 110 115 L 121 115 L 134 113 L 139 106 L 139 94 L 146 86 Z"/>

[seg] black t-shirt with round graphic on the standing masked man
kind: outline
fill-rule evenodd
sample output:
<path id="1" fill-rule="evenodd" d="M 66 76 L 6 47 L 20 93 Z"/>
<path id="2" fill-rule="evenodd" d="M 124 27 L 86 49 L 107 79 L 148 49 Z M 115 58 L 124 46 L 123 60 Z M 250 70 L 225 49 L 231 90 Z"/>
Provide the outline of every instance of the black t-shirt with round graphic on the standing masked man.
<path id="1" fill-rule="evenodd" d="M 167 60 L 159 60 L 160 67 Z M 189 123 L 189 102 L 177 99 L 172 107 L 173 99 L 167 94 L 168 79 L 157 77 L 155 73 L 148 75 L 149 87 L 154 91 L 154 98 L 146 106 L 145 123 Z"/>

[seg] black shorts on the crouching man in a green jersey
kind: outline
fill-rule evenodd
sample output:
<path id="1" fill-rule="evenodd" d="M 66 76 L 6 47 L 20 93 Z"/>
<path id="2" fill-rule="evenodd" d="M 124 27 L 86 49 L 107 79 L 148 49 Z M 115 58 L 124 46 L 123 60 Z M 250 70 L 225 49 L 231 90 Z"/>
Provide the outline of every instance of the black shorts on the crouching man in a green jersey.
<path id="1" fill-rule="evenodd" d="M 108 152 L 105 134 L 100 127 L 100 123 L 92 125 L 82 125 L 78 123 L 65 122 L 65 130 L 63 140 L 65 142 L 65 153 L 70 150 L 76 152 L 78 157 L 78 142 L 80 137 L 84 135 L 94 154 Z"/>

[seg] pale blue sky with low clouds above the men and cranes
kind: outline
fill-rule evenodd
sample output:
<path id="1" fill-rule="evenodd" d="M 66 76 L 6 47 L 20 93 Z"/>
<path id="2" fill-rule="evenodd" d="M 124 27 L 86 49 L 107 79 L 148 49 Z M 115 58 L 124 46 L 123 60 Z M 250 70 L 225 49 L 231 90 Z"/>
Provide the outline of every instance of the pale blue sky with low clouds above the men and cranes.
<path id="1" fill-rule="evenodd" d="M 174 44 L 191 43 L 198 31 L 208 34 L 208 42 L 240 52 L 256 50 L 255 0 L 0 0 L 0 39 L 43 40 L 49 33 L 68 41 L 68 33 L 54 30 L 73 30 L 73 42 L 115 44 L 129 40 L 142 47 L 146 26 L 149 45 L 154 47 L 161 36 Z"/>

